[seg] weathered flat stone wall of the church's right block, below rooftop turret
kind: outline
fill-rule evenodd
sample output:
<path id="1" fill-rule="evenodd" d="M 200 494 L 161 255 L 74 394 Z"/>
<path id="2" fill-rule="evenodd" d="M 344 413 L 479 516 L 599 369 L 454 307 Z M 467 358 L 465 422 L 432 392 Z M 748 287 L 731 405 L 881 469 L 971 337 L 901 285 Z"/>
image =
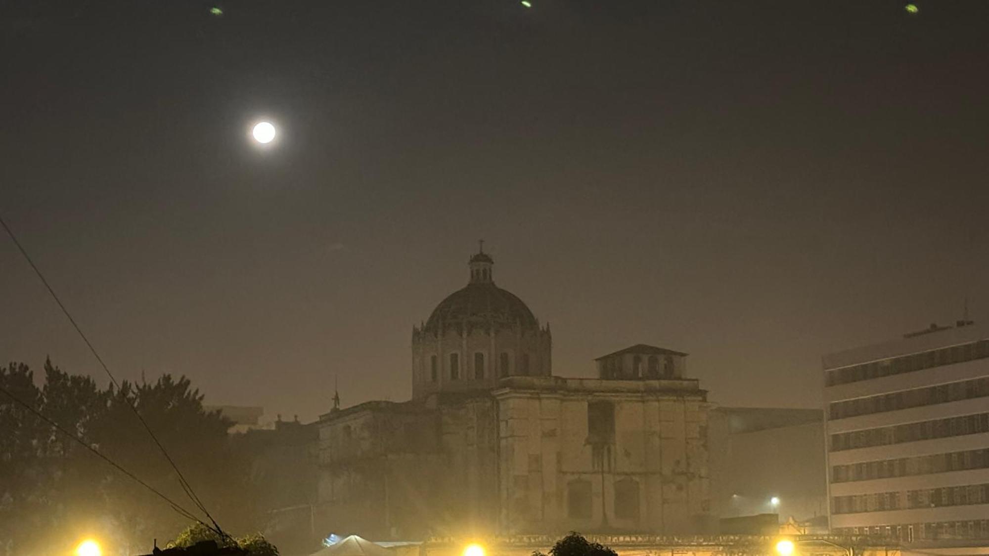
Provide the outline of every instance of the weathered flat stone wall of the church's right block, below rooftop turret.
<path id="1" fill-rule="evenodd" d="M 495 392 L 502 532 L 710 526 L 702 391 L 649 384 L 674 381 L 509 382 Z"/>

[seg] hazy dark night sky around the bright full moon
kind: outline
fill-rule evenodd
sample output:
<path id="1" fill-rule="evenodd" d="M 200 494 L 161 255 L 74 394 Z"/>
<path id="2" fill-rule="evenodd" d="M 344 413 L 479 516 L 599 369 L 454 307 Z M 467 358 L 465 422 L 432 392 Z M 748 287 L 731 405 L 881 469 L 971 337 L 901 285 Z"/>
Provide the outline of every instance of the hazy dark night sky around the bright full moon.
<path id="1" fill-rule="evenodd" d="M 817 407 L 823 353 L 989 319 L 989 2 L 904 5 L 5 2 L 0 215 L 119 377 L 208 403 L 405 400 L 484 238 L 555 374 L 652 343 Z M 0 360 L 105 383 L 0 269 Z"/>

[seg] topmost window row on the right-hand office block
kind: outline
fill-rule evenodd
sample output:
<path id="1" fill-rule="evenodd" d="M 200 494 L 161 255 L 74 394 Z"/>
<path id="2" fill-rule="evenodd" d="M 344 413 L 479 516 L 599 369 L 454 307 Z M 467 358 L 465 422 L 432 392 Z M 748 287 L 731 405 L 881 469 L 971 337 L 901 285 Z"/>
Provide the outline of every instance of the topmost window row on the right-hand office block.
<path id="1" fill-rule="evenodd" d="M 860 380 L 870 380 L 889 375 L 930 369 L 931 367 L 940 367 L 941 365 L 949 365 L 951 363 L 971 361 L 972 359 L 981 359 L 983 357 L 989 357 L 989 340 L 985 339 L 952 347 L 932 349 L 931 351 L 905 355 L 903 357 L 872 361 L 871 363 L 863 363 L 861 365 L 854 365 L 853 367 L 833 369 L 825 375 L 825 382 L 828 386 L 848 384 Z"/>

